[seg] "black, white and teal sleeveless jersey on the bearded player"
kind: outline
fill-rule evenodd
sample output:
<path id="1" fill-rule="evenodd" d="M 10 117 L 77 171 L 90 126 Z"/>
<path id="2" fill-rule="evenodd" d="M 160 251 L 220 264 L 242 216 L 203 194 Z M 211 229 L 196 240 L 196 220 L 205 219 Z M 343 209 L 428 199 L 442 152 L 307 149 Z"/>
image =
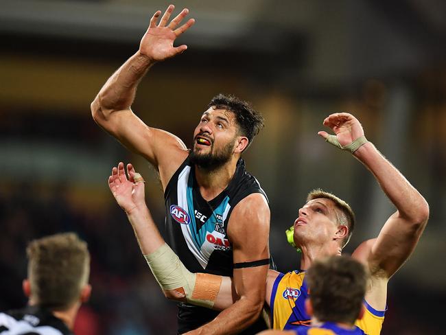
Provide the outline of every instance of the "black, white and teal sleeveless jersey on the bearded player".
<path id="1" fill-rule="evenodd" d="M 195 168 L 189 157 L 178 167 L 164 194 L 166 240 L 189 271 L 232 277 L 233 250 L 227 234 L 228 221 L 235 205 L 253 193 L 263 194 L 266 198 L 257 179 L 246 172 L 242 159 L 237 162 L 228 187 L 210 201 L 204 200 L 200 194 Z M 179 308 L 180 333 L 196 329 L 218 314 L 185 303 L 180 303 Z M 261 329 L 264 328 L 258 328 Z"/>

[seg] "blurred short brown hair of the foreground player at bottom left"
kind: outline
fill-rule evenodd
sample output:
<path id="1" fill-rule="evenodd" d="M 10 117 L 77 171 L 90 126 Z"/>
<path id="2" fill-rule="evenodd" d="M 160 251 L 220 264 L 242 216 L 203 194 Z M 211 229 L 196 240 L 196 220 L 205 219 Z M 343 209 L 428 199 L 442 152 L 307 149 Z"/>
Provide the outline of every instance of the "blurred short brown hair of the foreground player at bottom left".
<path id="1" fill-rule="evenodd" d="M 59 233 L 30 242 L 26 249 L 31 295 L 40 306 L 64 310 L 88 284 L 90 254 L 75 233 Z"/>

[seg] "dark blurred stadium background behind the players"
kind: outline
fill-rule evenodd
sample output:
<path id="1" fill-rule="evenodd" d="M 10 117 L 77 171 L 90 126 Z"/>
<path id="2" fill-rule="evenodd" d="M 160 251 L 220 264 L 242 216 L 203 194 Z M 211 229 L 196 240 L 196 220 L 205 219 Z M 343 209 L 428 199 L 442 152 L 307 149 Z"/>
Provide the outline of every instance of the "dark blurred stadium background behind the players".
<path id="1" fill-rule="evenodd" d="M 298 255 L 284 231 L 307 192 L 322 187 L 351 203 L 351 252 L 394 210 L 373 177 L 320 139 L 322 119 L 351 111 L 366 136 L 430 203 L 419 246 L 390 283 L 382 334 L 439 334 L 446 301 L 446 5 L 442 0 L 176 1 L 196 19 L 185 54 L 156 65 L 134 111 L 191 143 L 213 95 L 234 93 L 263 113 L 246 152 L 272 208 L 270 247 L 279 269 Z M 152 167 L 91 119 L 90 102 L 137 50 L 158 0 L 0 1 L 0 309 L 25 299 L 25 245 L 77 231 L 92 254 L 93 297 L 78 334 L 172 334 L 165 301 L 106 180 L 131 161 L 148 180 L 148 205 L 163 224 Z M 178 45 L 178 44 L 177 44 Z"/>

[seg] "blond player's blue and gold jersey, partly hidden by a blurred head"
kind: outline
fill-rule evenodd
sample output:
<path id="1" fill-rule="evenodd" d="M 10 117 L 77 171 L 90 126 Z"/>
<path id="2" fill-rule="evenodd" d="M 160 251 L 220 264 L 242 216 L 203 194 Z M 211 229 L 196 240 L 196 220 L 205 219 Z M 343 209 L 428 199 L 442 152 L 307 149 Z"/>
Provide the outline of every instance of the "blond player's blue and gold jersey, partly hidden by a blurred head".
<path id="1" fill-rule="evenodd" d="M 311 318 L 305 312 L 305 300 L 308 297 L 305 272 L 294 270 L 286 274 L 280 273 L 274 281 L 271 292 L 272 328 L 274 330 L 295 330 L 299 325 L 310 325 Z M 373 309 L 366 301 L 364 301 L 364 307 L 366 310 L 364 316 L 362 319 L 356 320 L 355 325 L 365 334 L 379 335 L 384 322 L 384 311 Z"/>

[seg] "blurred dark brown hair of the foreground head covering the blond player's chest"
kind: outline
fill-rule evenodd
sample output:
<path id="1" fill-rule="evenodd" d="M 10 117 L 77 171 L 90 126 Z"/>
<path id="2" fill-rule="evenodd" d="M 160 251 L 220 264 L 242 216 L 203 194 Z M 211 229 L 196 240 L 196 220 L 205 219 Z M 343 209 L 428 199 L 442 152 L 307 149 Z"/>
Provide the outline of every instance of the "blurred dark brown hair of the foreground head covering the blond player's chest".
<path id="1" fill-rule="evenodd" d="M 320 322 L 355 323 L 366 294 L 368 272 L 349 256 L 316 261 L 305 273 L 314 316 Z"/>

